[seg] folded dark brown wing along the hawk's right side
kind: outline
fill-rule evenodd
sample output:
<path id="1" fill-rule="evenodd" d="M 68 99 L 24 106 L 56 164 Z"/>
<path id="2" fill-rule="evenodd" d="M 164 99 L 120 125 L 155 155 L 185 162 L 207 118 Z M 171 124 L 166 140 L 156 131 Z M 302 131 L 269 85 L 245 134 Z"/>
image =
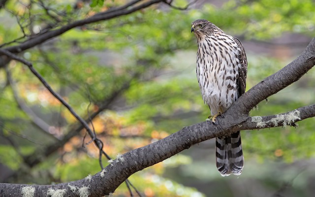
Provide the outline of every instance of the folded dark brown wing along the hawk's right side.
<path id="1" fill-rule="evenodd" d="M 241 48 L 241 54 L 238 56 L 238 59 L 241 63 L 241 68 L 238 70 L 238 79 L 236 81 L 238 95 L 241 97 L 246 90 L 246 76 L 247 76 L 247 58 L 245 54 L 245 49 L 241 41 L 237 37 L 233 37 L 237 45 Z"/>

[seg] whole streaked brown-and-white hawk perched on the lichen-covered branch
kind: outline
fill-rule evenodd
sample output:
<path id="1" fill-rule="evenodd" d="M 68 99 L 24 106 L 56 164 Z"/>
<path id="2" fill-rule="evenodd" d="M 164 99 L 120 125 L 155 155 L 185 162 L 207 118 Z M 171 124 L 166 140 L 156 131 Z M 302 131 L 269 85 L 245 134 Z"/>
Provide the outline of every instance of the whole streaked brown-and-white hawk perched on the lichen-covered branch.
<path id="1" fill-rule="evenodd" d="M 212 122 L 245 93 L 247 58 L 239 39 L 213 23 L 199 19 L 191 24 L 197 38 L 197 79 Z M 210 118 L 210 116 L 209 116 Z M 240 175 L 244 156 L 240 131 L 216 138 L 216 162 L 222 176 Z"/>

